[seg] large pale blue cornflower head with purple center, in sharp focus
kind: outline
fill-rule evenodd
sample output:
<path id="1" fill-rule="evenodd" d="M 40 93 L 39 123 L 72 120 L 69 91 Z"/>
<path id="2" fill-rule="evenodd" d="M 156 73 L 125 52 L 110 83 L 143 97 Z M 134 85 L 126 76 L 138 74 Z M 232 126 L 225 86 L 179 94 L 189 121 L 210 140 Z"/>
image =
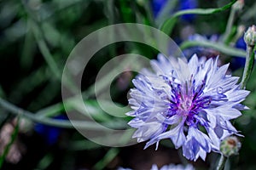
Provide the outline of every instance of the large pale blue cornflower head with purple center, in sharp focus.
<path id="1" fill-rule="evenodd" d="M 133 138 L 148 140 L 145 148 L 172 139 L 189 160 L 205 160 L 207 152 L 219 151 L 222 139 L 238 133 L 230 119 L 246 109 L 240 103 L 249 92 L 236 84 L 239 77 L 226 75 L 229 65 L 218 67 L 218 58 L 194 55 L 187 62 L 162 54 L 151 65 L 154 71 L 143 70 L 133 80 L 133 111 L 127 113 L 137 128 Z"/>

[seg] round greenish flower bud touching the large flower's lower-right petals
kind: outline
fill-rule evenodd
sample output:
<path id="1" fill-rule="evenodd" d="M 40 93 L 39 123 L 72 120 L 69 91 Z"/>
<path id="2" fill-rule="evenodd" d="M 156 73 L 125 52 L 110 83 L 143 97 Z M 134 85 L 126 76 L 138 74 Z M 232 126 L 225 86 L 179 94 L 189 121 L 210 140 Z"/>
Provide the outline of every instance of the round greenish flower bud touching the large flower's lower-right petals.
<path id="1" fill-rule="evenodd" d="M 226 157 L 238 155 L 240 148 L 241 143 L 236 138 L 236 136 L 229 136 L 225 138 L 220 144 L 220 151 Z"/>

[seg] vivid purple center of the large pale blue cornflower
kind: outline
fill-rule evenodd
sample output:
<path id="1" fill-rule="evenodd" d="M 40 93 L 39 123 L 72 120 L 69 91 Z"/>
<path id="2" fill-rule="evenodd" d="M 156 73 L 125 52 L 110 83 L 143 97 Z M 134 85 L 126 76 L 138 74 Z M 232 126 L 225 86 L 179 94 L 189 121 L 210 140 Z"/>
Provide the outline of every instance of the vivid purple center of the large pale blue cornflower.
<path id="1" fill-rule="evenodd" d="M 192 78 L 191 78 L 192 79 Z M 206 114 L 202 109 L 209 107 L 212 98 L 202 96 L 206 82 L 202 81 L 201 85 L 195 87 L 195 82 L 186 82 L 183 86 L 180 84 L 170 86 L 172 88 L 172 99 L 170 99 L 167 118 L 174 115 L 186 118 L 188 126 L 197 127 L 207 126 Z"/>

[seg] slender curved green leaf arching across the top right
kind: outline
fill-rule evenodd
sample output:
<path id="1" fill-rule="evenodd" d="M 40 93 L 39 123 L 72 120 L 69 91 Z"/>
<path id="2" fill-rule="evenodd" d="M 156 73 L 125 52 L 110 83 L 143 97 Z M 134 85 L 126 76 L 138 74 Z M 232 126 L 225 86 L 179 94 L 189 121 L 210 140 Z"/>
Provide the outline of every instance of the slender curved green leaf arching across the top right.
<path id="1" fill-rule="evenodd" d="M 170 35 L 177 21 L 177 17 L 183 14 L 214 14 L 230 8 L 234 3 L 236 3 L 236 0 L 233 0 L 231 3 L 228 3 L 221 8 L 193 8 L 178 11 L 177 13 L 173 14 L 171 18 L 166 20 L 162 26 L 160 26 L 160 31 L 164 31 L 167 35 Z"/>

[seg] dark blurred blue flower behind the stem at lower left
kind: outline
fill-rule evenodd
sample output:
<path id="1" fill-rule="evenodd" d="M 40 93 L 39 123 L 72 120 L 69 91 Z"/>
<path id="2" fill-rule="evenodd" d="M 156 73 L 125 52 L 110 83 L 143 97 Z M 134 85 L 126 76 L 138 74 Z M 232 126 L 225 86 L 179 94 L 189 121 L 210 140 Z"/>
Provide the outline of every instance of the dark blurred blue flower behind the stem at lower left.
<path id="1" fill-rule="evenodd" d="M 55 116 L 54 119 L 66 120 L 67 116 L 59 115 Z M 61 133 L 60 127 L 52 127 L 41 123 L 37 123 L 34 129 L 38 134 L 44 137 L 46 143 L 49 145 L 55 144 Z"/>

